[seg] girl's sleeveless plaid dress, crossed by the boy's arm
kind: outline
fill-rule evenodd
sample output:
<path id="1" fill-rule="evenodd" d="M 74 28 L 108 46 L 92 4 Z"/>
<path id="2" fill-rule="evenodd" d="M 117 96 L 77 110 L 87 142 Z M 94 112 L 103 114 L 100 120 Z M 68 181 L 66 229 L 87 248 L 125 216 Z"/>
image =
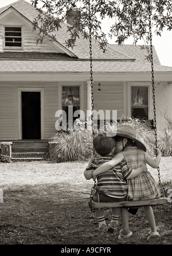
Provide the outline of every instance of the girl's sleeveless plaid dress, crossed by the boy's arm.
<path id="1" fill-rule="evenodd" d="M 123 152 L 124 160 L 130 168 L 138 168 L 142 164 L 146 164 L 146 157 L 142 149 L 136 146 L 130 146 Z M 154 199 L 161 196 L 158 185 L 155 183 L 150 172 L 143 172 L 133 179 L 128 179 L 128 195 L 127 200 L 146 200 Z"/>

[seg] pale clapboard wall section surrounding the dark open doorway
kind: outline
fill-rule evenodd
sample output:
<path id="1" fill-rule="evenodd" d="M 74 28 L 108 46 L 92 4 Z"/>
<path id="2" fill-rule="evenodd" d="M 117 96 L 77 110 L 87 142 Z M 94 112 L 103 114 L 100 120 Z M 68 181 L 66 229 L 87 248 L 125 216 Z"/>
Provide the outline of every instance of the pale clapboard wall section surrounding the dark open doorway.
<path id="1" fill-rule="evenodd" d="M 44 139 L 48 140 L 54 133 L 55 113 L 58 110 L 58 85 L 57 83 L 8 83 L 0 84 L 0 140 L 19 139 L 19 110 L 18 110 L 18 88 L 44 88 Z"/>

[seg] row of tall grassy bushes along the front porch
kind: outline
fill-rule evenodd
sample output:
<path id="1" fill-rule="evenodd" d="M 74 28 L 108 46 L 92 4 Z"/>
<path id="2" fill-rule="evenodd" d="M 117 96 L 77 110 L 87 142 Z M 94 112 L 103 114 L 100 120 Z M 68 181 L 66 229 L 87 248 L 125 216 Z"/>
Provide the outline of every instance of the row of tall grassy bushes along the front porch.
<path id="1" fill-rule="evenodd" d="M 85 125 L 85 124 L 84 124 Z M 119 118 L 118 125 L 130 125 L 136 130 L 136 138 L 142 142 L 150 156 L 154 155 L 155 148 L 155 131 L 150 126 L 150 122 L 139 120 L 137 118 L 125 119 L 124 116 Z M 81 126 L 83 127 L 83 126 Z M 106 130 L 113 132 L 116 125 L 106 123 Z M 96 135 L 96 131 L 95 131 Z M 163 156 L 169 156 L 172 153 L 172 122 L 167 123 L 165 131 L 158 132 L 158 147 Z M 88 160 L 93 149 L 92 133 L 85 129 L 71 129 L 57 132 L 50 141 L 57 142 L 54 148 L 53 161 L 58 163 L 77 160 Z"/>

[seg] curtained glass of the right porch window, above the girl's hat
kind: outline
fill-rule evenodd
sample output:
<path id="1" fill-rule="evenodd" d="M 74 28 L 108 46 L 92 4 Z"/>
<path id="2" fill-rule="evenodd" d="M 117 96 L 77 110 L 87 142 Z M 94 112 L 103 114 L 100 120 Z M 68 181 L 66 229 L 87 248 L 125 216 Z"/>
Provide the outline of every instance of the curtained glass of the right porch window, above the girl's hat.
<path id="1" fill-rule="evenodd" d="M 148 119 L 148 87 L 131 87 L 131 116 Z"/>

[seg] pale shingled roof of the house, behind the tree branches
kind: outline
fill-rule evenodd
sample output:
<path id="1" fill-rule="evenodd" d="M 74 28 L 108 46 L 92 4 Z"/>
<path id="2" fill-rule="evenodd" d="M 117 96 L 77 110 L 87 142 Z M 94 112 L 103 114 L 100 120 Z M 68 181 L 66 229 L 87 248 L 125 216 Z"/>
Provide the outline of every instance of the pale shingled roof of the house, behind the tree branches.
<path id="1" fill-rule="evenodd" d="M 25 0 L 19 0 L 0 9 L 0 17 L 5 10 L 13 7 L 30 22 L 37 17 L 37 10 Z M 66 47 L 65 40 L 69 38 L 68 24 L 63 23 L 56 33 L 58 43 Z M 45 54 L 23 52 L 16 55 L 8 52 L 0 53 L 1 71 L 28 72 L 89 72 L 89 40 L 79 38 L 73 49 L 69 49 L 77 58 L 67 54 Z M 154 70 L 172 71 L 172 67 L 161 66 L 157 52 L 154 50 Z M 140 46 L 108 44 L 105 54 L 99 49 L 99 43 L 92 40 L 93 70 L 96 72 L 150 72 L 151 65 L 145 60 L 145 50 Z"/>

